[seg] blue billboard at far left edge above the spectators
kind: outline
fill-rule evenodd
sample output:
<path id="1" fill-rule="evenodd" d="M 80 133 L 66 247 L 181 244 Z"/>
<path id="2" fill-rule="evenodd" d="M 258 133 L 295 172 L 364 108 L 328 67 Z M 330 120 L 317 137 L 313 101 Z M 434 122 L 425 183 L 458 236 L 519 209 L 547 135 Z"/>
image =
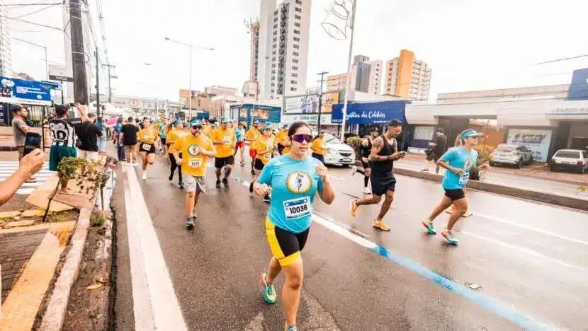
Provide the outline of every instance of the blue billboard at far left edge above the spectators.
<path id="1" fill-rule="evenodd" d="M 51 105 L 50 86 L 40 81 L 26 81 L 0 76 L 0 102 L 27 105 Z"/>

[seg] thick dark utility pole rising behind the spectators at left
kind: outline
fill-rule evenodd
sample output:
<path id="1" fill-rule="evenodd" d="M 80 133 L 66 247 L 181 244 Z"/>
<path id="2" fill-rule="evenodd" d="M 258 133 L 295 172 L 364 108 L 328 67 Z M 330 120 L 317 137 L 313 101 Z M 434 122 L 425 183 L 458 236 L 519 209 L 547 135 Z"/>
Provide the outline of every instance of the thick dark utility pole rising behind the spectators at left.
<path id="1" fill-rule="evenodd" d="M 84 53 L 84 34 L 81 28 L 81 2 L 69 1 L 69 25 L 72 34 L 72 61 L 74 71 L 74 100 L 87 105 L 88 81 L 86 79 L 86 53 Z"/>

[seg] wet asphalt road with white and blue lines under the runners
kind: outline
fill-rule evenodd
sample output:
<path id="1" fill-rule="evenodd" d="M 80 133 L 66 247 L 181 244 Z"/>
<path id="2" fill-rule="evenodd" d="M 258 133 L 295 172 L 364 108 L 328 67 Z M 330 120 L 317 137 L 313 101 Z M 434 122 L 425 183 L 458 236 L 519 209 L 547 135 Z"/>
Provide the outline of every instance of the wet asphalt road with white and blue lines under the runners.
<path id="1" fill-rule="evenodd" d="M 276 281 L 278 303 L 268 306 L 261 298 L 259 273 L 271 257 L 267 205 L 245 186 L 249 168 L 236 167 L 228 190 L 215 189 L 208 168 L 193 231 L 184 227 L 184 193 L 169 182 L 168 169 L 158 155 L 147 181 L 140 180 L 140 167 L 117 170 L 115 327 L 281 330 L 283 278 Z M 588 325 L 582 308 L 588 302 L 588 214 L 470 191 L 474 214 L 456 226 L 455 247 L 426 235 L 420 224 L 441 199 L 438 183 L 397 176 L 394 209 L 385 218 L 392 231 L 383 233 L 371 226 L 379 206 L 349 215 L 349 200 L 363 196 L 361 175 L 351 177 L 349 168 L 329 173 L 337 197 L 332 205 L 315 200 L 303 251 L 299 330 Z M 447 217 L 436 220 L 438 230 Z"/>

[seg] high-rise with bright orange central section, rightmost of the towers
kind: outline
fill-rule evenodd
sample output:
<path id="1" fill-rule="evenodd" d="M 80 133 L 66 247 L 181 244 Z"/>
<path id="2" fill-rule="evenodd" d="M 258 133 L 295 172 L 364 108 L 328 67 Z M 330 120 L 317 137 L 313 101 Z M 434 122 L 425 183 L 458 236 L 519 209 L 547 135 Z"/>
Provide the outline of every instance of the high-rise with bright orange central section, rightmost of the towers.
<path id="1" fill-rule="evenodd" d="M 386 63 L 386 93 L 410 100 L 427 100 L 431 85 L 431 68 L 415 59 L 414 53 L 401 50 L 400 57 Z"/>

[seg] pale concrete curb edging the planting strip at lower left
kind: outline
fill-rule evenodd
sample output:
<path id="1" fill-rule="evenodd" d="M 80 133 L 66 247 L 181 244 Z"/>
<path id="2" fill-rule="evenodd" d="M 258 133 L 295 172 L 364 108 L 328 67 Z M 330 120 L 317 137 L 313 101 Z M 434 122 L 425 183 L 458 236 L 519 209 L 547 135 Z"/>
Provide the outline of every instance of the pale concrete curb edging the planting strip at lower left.
<path id="1" fill-rule="evenodd" d="M 47 309 L 43 313 L 43 320 L 38 330 L 53 331 L 62 330 L 69 303 L 69 294 L 78 277 L 81 259 L 84 256 L 86 239 L 90 227 L 90 216 L 94 211 L 99 192 L 79 211 L 78 221 L 69 240 L 69 250 L 65 256 L 65 262 L 59 277 L 55 281 Z"/>

